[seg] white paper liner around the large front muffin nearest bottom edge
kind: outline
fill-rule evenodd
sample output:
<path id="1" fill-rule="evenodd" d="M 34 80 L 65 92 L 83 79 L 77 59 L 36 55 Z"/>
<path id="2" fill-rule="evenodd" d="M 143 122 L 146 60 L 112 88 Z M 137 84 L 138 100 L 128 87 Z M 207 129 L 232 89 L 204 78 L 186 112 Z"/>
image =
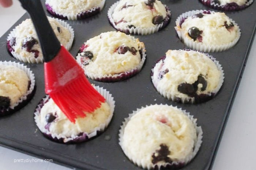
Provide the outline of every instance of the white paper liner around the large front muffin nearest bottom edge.
<path id="1" fill-rule="evenodd" d="M 153 105 L 153 104 L 151 104 L 150 106 L 152 106 L 152 105 Z M 155 104 L 155 105 L 157 105 L 157 104 Z M 163 105 L 163 104 L 161 104 L 161 105 Z M 169 106 L 169 105 L 167 105 L 167 104 L 165 104 L 165 105 L 166 105 L 166 106 Z M 146 106 L 146 107 L 148 107 L 148 106 Z M 168 169 L 170 169 L 170 168 L 174 168 L 174 167 L 180 168 L 180 167 L 185 166 L 188 162 L 190 162 L 190 161 L 195 157 L 196 153 L 199 151 L 200 146 L 201 146 L 201 144 L 202 144 L 202 142 L 203 142 L 203 141 L 202 141 L 202 138 L 203 138 L 203 131 L 202 131 L 201 126 L 197 126 L 197 123 L 196 123 L 197 119 L 193 118 L 193 115 L 190 115 L 189 112 L 186 112 L 186 110 L 182 110 L 181 108 L 178 108 L 177 106 L 176 106 L 175 108 L 178 108 L 180 111 L 182 111 L 182 112 L 183 112 L 185 115 L 187 115 L 188 118 L 192 121 L 192 123 L 193 123 L 193 125 L 194 125 L 194 127 L 195 127 L 195 129 L 196 129 L 196 135 L 197 135 L 197 141 L 196 141 L 196 143 L 195 143 L 195 145 L 194 145 L 194 150 L 193 150 L 193 152 L 192 152 L 190 155 L 188 155 L 188 156 L 184 159 L 184 161 L 182 161 L 182 162 L 175 162 L 175 161 L 174 161 L 174 162 L 172 162 L 172 163 L 156 163 L 156 164 L 153 165 L 153 163 L 147 164 L 146 162 L 143 162 L 143 161 L 141 161 L 141 160 L 134 160 L 132 157 L 130 157 L 130 156 L 127 154 L 125 148 L 123 147 L 123 136 L 124 136 L 124 129 L 125 129 L 125 126 L 126 126 L 127 123 L 129 122 L 129 120 L 131 120 L 131 118 L 132 118 L 133 115 L 135 115 L 136 113 L 138 113 L 139 111 L 143 110 L 143 109 L 146 108 L 146 107 L 142 107 L 142 108 L 140 108 L 140 109 L 137 108 L 136 111 L 133 111 L 132 114 L 129 114 L 129 117 L 124 119 L 124 122 L 123 122 L 123 124 L 122 124 L 121 127 L 120 127 L 120 130 L 119 130 L 119 145 L 121 146 L 121 148 L 122 148 L 124 154 L 125 154 L 125 155 L 130 159 L 130 161 L 132 161 L 134 164 L 138 165 L 139 167 L 142 167 L 143 169 L 148 169 L 148 170 L 149 170 L 149 169 L 155 169 L 156 166 L 157 166 L 156 169 L 160 169 L 160 168 L 168 168 Z M 170 107 L 172 107 L 172 105 L 170 105 Z"/>

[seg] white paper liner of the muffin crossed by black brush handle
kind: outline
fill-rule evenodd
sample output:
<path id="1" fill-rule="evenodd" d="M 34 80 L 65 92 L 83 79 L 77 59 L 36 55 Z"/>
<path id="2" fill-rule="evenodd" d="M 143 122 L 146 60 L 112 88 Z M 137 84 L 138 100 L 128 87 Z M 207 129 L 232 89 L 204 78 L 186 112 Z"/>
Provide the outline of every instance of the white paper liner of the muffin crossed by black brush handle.
<path id="1" fill-rule="evenodd" d="M 62 21 L 60 19 L 55 19 L 55 20 L 57 20 L 63 27 L 67 28 L 68 31 L 71 33 L 70 40 L 68 41 L 67 45 L 65 46 L 65 48 L 67 50 L 70 50 L 72 47 L 73 41 L 74 41 L 74 36 L 75 36 L 74 29 L 65 21 Z M 7 43 L 8 43 L 8 41 L 10 41 L 12 39 L 12 37 L 16 37 L 16 28 L 14 28 L 8 35 Z M 7 44 L 7 47 L 8 47 L 8 44 Z M 38 63 L 44 62 L 43 58 L 22 57 L 21 55 L 17 54 L 14 50 L 11 50 L 11 51 L 9 50 L 9 52 L 12 54 L 12 56 L 14 56 L 15 59 L 20 60 L 21 62 L 24 62 L 24 63 L 37 63 L 38 64 Z"/>

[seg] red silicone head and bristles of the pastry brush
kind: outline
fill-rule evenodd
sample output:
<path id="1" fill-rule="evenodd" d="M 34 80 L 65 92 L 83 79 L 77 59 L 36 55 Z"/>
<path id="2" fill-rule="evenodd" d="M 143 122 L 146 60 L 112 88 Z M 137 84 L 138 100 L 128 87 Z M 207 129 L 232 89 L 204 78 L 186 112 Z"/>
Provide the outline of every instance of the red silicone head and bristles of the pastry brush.
<path id="1" fill-rule="evenodd" d="M 71 122 L 105 102 L 86 79 L 83 69 L 62 46 L 56 57 L 45 63 L 45 91 Z"/>

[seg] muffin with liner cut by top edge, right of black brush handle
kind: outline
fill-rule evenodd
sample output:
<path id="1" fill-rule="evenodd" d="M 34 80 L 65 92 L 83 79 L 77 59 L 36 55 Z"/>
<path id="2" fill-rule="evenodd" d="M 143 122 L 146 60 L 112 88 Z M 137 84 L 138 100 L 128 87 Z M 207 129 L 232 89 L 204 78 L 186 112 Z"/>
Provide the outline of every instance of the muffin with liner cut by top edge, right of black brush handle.
<path id="1" fill-rule="evenodd" d="M 46 0 L 47 11 L 55 17 L 79 20 L 99 13 L 105 0 Z"/>

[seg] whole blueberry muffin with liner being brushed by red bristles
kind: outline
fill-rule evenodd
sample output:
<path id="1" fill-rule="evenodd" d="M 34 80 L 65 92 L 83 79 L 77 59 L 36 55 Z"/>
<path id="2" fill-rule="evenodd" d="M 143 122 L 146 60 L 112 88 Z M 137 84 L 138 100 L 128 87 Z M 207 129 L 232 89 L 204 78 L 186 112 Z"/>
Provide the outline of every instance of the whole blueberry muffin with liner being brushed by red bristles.
<path id="1" fill-rule="evenodd" d="M 35 110 L 35 122 L 39 130 L 49 139 L 60 143 L 78 143 L 102 133 L 110 123 L 114 111 L 114 100 L 108 91 L 95 87 L 106 99 L 93 112 L 71 122 L 49 97 L 42 99 Z"/>

